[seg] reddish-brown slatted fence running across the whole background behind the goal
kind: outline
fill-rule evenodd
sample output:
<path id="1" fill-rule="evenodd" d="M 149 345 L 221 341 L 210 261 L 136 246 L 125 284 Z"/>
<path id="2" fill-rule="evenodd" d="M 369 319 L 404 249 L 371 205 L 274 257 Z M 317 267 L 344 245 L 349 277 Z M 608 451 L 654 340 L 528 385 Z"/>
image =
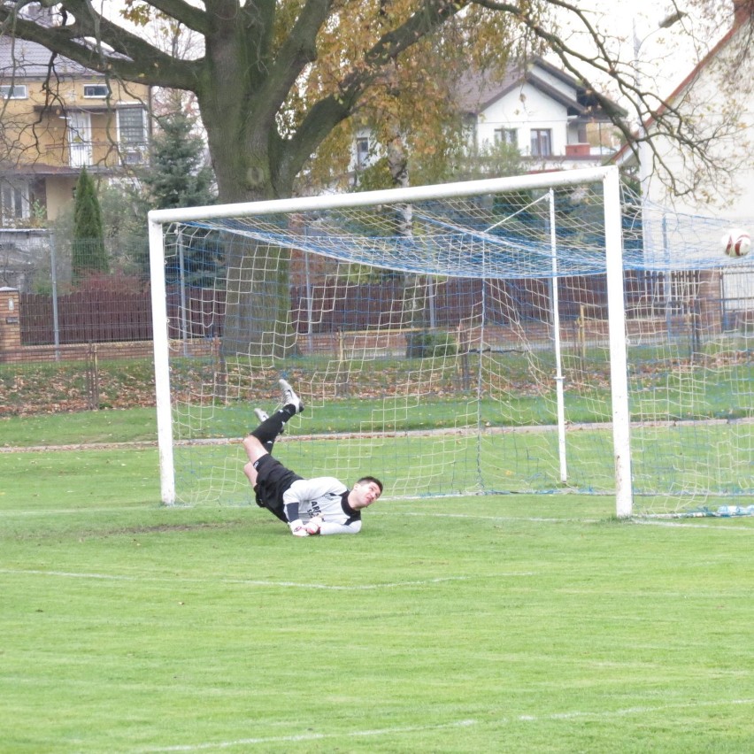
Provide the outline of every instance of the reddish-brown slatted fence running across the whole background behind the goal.
<path id="1" fill-rule="evenodd" d="M 743 274 L 743 273 L 742 273 Z M 520 320 L 542 320 L 550 307 L 546 281 L 448 280 L 432 291 L 435 327 L 454 328 L 473 315 L 474 302 L 487 286 L 486 316 L 505 325 L 512 314 Z M 18 294 L 19 345 L 70 345 L 88 342 L 135 342 L 152 338 L 150 289 L 118 275 L 97 278 L 96 286 L 64 295 Z M 306 289 L 291 286 L 291 318 L 297 333 L 328 333 L 383 327 L 391 307 L 400 300 L 396 281 L 358 286 Z M 560 318 L 585 315 L 604 319 L 607 299 L 604 276 L 558 281 Z M 735 292 L 735 287 L 732 288 Z M 629 319 L 670 319 L 687 313 L 704 316 L 707 326 L 736 329 L 751 319 L 754 302 L 725 296 L 719 275 L 709 272 L 629 273 L 626 279 Z M 171 338 L 217 338 L 223 334 L 225 292 L 216 289 L 173 288 L 167 301 Z"/>

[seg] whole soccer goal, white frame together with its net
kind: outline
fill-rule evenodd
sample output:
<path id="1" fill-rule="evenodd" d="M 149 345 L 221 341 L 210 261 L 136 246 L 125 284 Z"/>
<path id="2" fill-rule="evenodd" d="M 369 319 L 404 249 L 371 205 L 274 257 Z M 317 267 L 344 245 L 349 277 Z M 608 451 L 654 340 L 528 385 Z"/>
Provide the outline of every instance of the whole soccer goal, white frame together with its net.
<path id="1" fill-rule="evenodd" d="M 614 167 L 150 212 L 163 501 L 250 502 L 240 440 L 281 377 L 306 410 L 275 453 L 303 476 L 614 495 L 619 517 L 636 496 L 679 511 L 750 494 L 745 432 L 716 459 L 674 435 L 687 381 L 648 291 L 681 277 L 626 265 L 624 235 L 645 256 Z M 751 376 L 723 361 L 689 366 L 721 410 L 722 374 L 740 369 L 739 391 Z M 659 448 L 687 458 L 654 465 Z"/>

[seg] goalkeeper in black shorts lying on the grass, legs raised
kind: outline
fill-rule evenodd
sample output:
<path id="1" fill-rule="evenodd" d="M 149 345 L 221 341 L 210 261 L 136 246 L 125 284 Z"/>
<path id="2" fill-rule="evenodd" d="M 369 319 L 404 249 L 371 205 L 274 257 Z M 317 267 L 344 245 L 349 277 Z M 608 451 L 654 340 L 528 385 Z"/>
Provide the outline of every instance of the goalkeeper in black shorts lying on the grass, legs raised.
<path id="1" fill-rule="evenodd" d="M 348 489 L 331 476 L 304 479 L 286 468 L 272 451 L 285 423 L 304 411 L 301 398 L 285 380 L 280 381 L 282 408 L 271 416 L 255 409 L 259 426 L 243 440 L 249 478 L 257 504 L 273 512 L 294 536 L 358 534 L 361 512 L 382 494 L 382 482 L 363 476 Z"/>

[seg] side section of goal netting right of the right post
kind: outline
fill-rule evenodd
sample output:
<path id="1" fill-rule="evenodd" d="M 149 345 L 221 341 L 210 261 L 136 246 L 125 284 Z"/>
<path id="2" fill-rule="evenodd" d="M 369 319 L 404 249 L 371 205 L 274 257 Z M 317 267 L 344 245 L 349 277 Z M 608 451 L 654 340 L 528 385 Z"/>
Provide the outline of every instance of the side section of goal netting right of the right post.
<path id="1" fill-rule="evenodd" d="M 635 219 L 624 234 L 635 509 L 754 514 L 754 255 L 726 256 L 729 220 L 653 204 Z"/>

